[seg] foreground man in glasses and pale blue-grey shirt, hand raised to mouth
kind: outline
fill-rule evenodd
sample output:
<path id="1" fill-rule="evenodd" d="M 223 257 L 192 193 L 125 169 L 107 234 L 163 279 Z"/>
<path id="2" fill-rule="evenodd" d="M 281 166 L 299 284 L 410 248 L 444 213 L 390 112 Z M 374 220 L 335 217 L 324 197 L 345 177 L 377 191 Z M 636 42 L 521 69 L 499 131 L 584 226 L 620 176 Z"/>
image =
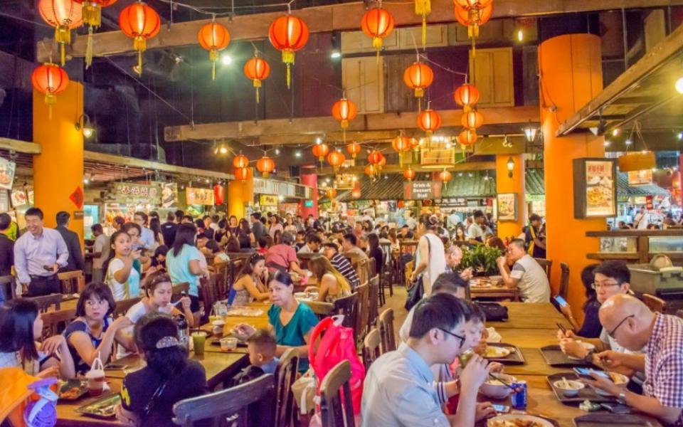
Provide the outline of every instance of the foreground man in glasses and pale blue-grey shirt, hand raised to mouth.
<path id="1" fill-rule="evenodd" d="M 396 352 L 379 357 L 365 378 L 362 427 L 475 425 L 477 391 L 491 369 L 475 354 L 460 374 L 460 403 L 455 416 L 445 416 L 432 386 L 433 364 L 451 363 L 467 350 L 464 302 L 439 293 L 418 302 L 410 337 Z"/>

